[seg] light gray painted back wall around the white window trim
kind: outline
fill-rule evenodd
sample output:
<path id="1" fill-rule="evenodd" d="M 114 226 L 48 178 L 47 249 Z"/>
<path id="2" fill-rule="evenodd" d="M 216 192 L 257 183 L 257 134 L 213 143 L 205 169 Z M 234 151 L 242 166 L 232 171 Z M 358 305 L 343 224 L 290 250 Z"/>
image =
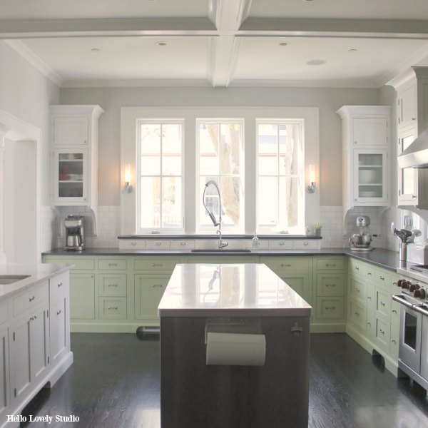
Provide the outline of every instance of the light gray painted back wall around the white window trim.
<path id="1" fill-rule="evenodd" d="M 61 104 L 99 104 L 98 204 L 120 205 L 122 106 L 320 108 L 320 205 L 342 205 L 343 105 L 392 105 L 389 90 L 362 88 L 61 88 Z"/>

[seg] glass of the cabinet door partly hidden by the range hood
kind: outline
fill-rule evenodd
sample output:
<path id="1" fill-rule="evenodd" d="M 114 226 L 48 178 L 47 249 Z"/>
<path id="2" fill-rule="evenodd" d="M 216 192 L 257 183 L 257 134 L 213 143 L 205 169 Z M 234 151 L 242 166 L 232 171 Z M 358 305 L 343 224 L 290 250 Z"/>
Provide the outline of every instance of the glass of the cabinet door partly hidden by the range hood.
<path id="1" fill-rule="evenodd" d="M 398 153 L 406 150 L 416 138 L 416 128 L 401 131 L 398 136 Z M 398 168 L 398 201 L 403 205 L 417 203 L 417 172 L 415 168 Z"/>

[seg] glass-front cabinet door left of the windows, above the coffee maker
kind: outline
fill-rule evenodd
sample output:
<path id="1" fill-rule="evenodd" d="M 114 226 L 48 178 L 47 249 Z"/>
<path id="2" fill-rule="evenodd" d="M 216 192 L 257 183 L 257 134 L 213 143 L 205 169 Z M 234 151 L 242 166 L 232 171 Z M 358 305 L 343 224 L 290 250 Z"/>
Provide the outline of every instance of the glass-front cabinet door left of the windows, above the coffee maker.
<path id="1" fill-rule="evenodd" d="M 85 202 L 88 198 L 88 149 L 56 149 L 54 162 L 55 202 Z"/>

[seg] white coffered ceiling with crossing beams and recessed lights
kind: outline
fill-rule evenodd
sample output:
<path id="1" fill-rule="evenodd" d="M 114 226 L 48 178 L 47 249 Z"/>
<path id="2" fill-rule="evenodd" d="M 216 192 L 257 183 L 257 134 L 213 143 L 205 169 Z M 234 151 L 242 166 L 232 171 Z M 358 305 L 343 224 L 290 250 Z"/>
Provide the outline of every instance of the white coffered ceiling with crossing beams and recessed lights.
<path id="1" fill-rule="evenodd" d="M 379 87 L 428 66 L 427 0 L 0 0 L 61 86 Z"/>

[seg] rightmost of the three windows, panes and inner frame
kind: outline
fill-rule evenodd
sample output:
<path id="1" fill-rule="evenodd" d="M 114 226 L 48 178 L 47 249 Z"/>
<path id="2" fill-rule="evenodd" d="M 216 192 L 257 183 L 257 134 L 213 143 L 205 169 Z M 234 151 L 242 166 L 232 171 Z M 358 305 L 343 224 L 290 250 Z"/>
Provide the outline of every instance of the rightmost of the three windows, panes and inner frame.
<path id="1" fill-rule="evenodd" d="M 257 229 L 303 233 L 303 121 L 257 121 Z"/>

